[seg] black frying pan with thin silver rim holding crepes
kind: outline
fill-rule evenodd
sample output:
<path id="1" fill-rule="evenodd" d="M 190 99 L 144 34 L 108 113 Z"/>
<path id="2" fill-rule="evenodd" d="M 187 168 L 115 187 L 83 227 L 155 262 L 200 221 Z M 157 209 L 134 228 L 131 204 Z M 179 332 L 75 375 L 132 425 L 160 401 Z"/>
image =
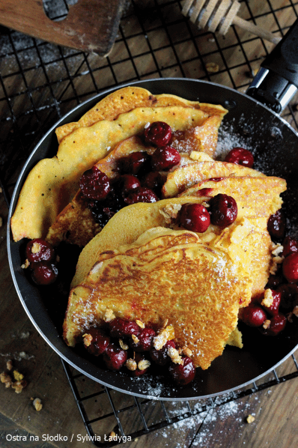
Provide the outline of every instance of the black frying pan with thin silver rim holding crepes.
<path id="1" fill-rule="evenodd" d="M 288 43 L 279 44 L 277 47 L 277 58 L 283 57 L 286 50 L 290 51 L 290 57 L 294 58 L 291 45 L 298 47 L 297 34 L 296 25 L 289 33 Z M 296 39 L 294 43 L 293 38 Z M 294 58 L 292 62 L 296 68 L 298 60 Z M 261 98 L 264 103 L 280 112 L 285 106 L 285 95 L 289 97 L 296 91 L 294 86 L 297 86 L 297 80 L 292 76 L 292 69 L 288 73 L 286 70 L 286 74 L 279 73 L 281 69 L 285 72 L 286 62 L 277 64 L 277 68 L 273 68 L 273 71 L 266 64 L 267 62 L 264 64 L 263 72 L 254 81 L 250 94 Z M 264 73 L 268 76 L 265 77 Z M 298 235 L 298 134 L 285 120 L 258 100 L 210 82 L 191 79 L 153 79 L 130 85 L 144 87 L 155 95 L 170 93 L 203 103 L 222 104 L 227 108 L 229 112 L 224 117 L 219 135 L 220 145 L 227 149 L 233 146 L 251 149 L 255 156 L 256 168 L 265 174 L 277 175 L 287 180 L 288 191 L 283 199 L 290 224 L 289 233 L 293 236 Z M 12 197 L 9 218 L 13 214 L 21 187 L 30 169 L 38 160 L 51 157 L 57 151 L 55 128 L 76 121 L 101 98 L 118 88 L 119 86 L 105 91 L 79 105 L 48 131 L 30 155 L 20 174 Z M 24 245 L 24 241 L 12 240 L 8 227 L 7 249 L 11 274 L 30 320 L 41 336 L 69 364 L 93 380 L 122 392 L 163 400 L 186 400 L 221 394 L 259 379 L 281 364 L 298 347 L 297 320 L 293 324 L 288 324 L 284 332 L 275 337 L 261 336 L 258 330 L 241 329 L 244 348 L 240 350 L 227 346 L 223 355 L 215 359 L 208 370 L 197 369 L 195 381 L 186 387 L 169 385 L 166 377 L 160 373 L 132 379 L 126 373 L 107 371 L 97 366 L 94 358 L 88 358 L 85 351 L 70 348 L 63 341 L 61 326 L 67 303 L 68 282 L 73 273 L 65 273 L 65 284 L 59 283 L 46 289 L 38 288 L 28 279 L 26 270 L 20 268 L 24 261 Z M 72 256 L 67 259 L 70 258 Z"/>

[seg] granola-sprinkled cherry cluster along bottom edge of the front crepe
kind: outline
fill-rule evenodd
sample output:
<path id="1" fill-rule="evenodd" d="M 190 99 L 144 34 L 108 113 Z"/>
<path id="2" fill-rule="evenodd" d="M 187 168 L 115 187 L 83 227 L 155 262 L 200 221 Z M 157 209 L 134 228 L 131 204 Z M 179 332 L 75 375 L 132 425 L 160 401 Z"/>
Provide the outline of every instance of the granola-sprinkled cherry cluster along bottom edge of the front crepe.
<path id="1" fill-rule="evenodd" d="M 91 336 L 91 337 L 90 337 Z M 144 375 L 153 362 L 156 367 L 164 367 L 169 376 L 178 385 L 190 383 L 196 369 L 189 356 L 181 355 L 183 363 L 174 363 L 169 356 L 169 349 L 177 349 L 173 339 L 167 340 L 160 349 L 154 348 L 155 330 L 140 327 L 128 319 L 115 318 L 105 328 L 92 328 L 83 336 L 83 343 L 88 352 L 101 356 L 109 370 L 123 367 L 133 377 Z"/>

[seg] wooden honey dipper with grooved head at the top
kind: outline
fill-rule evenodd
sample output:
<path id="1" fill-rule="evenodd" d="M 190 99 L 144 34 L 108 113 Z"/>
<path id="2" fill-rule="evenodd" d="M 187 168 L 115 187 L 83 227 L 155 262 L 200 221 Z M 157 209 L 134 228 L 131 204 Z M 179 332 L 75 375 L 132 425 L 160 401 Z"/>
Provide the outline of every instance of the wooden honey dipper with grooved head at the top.
<path id="1" fill-rule="evenodd" d="M 213 33 L 218 31 L 224 35 L 230 25 L 237 25 L 274 44 L 281 40 L 281 37 L 238 17 L 236 14 L 239 7 L 237 0 L 185 0 L 182 14 L 188 16 L 193 23 L 198 23 L 200 29 L 208 27 Z"/>

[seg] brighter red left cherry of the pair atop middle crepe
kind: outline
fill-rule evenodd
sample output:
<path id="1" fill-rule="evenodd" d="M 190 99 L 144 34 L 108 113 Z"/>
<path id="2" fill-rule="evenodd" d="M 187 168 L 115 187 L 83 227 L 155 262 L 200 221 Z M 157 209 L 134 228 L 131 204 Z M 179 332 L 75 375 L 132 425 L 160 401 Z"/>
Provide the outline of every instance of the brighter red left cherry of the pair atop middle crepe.
<path id="1" fill-rule="evenodd" d="M 203 233 L 210 225 L 210 215 L 206 207 L 201 204 L 183 204 L 178 215 L 178 225 Z"/>

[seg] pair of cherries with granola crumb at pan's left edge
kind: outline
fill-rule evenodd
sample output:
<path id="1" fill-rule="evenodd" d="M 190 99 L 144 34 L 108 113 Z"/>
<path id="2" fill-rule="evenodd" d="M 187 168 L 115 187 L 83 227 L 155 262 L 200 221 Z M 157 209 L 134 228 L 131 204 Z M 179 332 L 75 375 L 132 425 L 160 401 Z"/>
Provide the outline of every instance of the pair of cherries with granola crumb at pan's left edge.
<path id="1" fill-rule="evenodd" d="M 35 238 L 26 245 L 26 259 L 31 277 L 38 285 L 50 285 L 58 277 L 57 260 L 53 246 L 41 238 Z"/>

